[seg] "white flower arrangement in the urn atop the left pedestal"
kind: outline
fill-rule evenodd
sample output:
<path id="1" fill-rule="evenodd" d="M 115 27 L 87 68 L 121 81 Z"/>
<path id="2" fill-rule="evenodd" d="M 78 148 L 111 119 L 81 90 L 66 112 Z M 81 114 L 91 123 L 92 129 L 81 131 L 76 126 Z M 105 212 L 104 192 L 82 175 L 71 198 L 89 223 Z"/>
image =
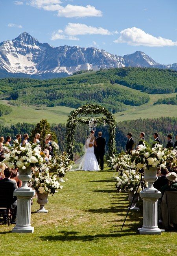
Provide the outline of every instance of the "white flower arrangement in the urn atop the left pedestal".
<path id="1" fill-rule="evenodd" d="M 26 143 L 26 145 L 20 146 L 15 143 L 15 147 L 11 148 L 11 151 L 7 153 L 4 159 L 4 163 L 12 169 L 26 167 L 38 167 L 43 163 L 43 153 L 39 145 Z"/>

